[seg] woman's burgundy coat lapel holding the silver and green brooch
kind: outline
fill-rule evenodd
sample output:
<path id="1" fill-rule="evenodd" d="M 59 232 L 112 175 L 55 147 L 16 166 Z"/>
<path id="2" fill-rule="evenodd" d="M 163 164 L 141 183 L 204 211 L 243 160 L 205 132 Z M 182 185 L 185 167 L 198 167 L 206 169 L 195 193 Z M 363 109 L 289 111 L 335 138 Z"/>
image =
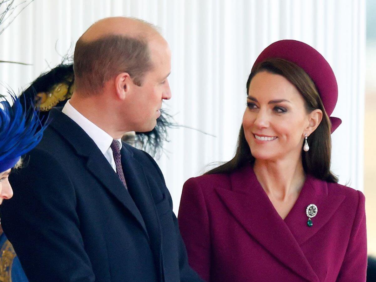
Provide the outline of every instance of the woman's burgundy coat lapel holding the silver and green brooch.
<path id="1" fill-rule="evenodd" d="M 343 202 L 343 195 L 328 195 L 327 183 L 307 176 L 294 207 L 285 218 L 299 245 L 315 235 L 333 216 Z M 306 208 L 310 204 L 317 206 L 317 215 L 312 218 L 313 225 L 307 226 Z"/>

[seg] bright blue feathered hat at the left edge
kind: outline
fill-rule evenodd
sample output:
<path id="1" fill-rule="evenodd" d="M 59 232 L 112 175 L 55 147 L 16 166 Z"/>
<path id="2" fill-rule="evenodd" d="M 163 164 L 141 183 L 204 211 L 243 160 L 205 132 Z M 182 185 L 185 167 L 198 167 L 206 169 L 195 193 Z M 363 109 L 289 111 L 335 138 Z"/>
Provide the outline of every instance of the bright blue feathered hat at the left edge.
<path id="1" fill-rule="evenodd" d="M 8 90 L 11 105 L 0 95 L 0 173 L 12 167 L 20 157 L 41 141 L 47 123 L 42 124 L 38 110 L 26 106 L 15 93 Z"/>

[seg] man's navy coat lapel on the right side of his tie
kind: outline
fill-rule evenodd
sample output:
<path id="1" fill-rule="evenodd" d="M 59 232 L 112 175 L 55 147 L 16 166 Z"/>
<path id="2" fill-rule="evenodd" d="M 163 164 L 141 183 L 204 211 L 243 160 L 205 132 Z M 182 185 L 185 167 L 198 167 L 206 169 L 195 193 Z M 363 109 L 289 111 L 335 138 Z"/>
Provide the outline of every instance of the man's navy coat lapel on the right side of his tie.
<path id="1" fill-rule="evenodd" d="M 162 230 L 159 222 L 155 201 L 150 191 L 149 182 L 143 166 L 133 157 L 132 152 L 123 144 L 121 148 L 121 165 L 130 195 L 140 211 L 150 237 L 156 265 L 162 279 Z"/>

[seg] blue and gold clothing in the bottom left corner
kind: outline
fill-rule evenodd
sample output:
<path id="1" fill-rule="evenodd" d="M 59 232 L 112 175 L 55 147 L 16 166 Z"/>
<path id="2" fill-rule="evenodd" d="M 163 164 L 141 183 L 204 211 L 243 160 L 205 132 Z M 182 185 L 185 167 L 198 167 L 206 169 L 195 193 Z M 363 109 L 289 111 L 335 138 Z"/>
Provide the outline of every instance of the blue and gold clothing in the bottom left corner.
<path id="1" fill-rule="evenodd" d="M 4 233 L 0 235 L 0 246 L 0 279 L 10 282 L 28 282 L 20 260 Z M 11 279 L 9 279 L 9 276 L 11 276 Z"/>

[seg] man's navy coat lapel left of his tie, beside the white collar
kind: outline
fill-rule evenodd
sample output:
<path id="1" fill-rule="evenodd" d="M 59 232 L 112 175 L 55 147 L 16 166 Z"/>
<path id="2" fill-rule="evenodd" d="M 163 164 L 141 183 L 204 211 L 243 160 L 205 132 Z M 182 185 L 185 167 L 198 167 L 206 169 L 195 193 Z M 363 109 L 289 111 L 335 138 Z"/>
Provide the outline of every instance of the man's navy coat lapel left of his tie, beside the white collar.
<path id="1" fill-rule="evenodd" d="M 133 202 L 127 190 L 121 183 L 118 175 L 108 164 L 108 161 L 99 150 L 94 141 L 68 116 L 61 112 L 61 109 L 51 109 L 49 117 L 52 128 L 54 128 L 71 146 L 76 153 L 86 160 L 86 168 L 92 175 L 103 184 L 117 201 L 129 211 L 139 223 L 147 238 L 149 238 L 146 226 L 138 208 Z"/>

